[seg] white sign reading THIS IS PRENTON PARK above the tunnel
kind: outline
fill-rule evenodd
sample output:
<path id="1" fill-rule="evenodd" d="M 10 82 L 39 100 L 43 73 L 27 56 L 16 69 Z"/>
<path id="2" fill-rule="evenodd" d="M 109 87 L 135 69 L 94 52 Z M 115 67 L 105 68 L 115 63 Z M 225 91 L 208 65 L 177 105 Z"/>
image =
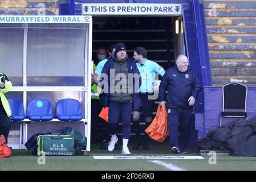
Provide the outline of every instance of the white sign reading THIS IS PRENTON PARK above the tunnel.
<path id="1" fill-rule="evenodd" d="M 83 3 L 82 9 L 83 15 L 181 15 L 181 4 Z"/>

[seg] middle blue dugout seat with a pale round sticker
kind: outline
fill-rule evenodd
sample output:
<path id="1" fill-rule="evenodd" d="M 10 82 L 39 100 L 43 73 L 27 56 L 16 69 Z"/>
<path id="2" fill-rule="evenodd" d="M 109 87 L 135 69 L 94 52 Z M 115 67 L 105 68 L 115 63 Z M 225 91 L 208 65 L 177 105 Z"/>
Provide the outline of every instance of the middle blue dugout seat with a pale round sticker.
<path id="1" fill-rule="evenodd" d="M 51 102 L 45 99 L 34 99 L 27 105 L 27 118 L 30 121 L 50 121 L 54 118 Z"/>

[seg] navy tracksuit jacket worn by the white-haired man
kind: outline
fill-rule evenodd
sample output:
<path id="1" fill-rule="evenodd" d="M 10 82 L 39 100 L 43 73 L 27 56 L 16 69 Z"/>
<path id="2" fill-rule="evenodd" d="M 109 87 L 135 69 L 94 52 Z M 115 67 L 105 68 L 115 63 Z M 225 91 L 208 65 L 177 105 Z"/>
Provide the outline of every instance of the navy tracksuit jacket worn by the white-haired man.
<path id="1" fill-rule="evenodd" d="M 175 65 L 169 68 L 162 77 L 159 87 L 159 101 L 165 101 L 168 109 L 191 109 L 188 99 L 193 96 L 195 99 L 200 93 L 200 85 L 196 73 L 190 67 L 186 72 L 178 71 Z"/>

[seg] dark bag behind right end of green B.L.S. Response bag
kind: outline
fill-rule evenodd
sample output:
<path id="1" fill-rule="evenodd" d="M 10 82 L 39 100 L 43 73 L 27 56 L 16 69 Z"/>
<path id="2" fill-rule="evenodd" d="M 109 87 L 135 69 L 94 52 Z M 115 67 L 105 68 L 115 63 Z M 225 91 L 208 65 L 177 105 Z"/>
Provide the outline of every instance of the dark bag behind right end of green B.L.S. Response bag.
<path id="1" fill-rule="evenodd" d="M 82 149 L 82 150 L 86 149 L 86 145 L 87 145 L 86 136 L 80 134 L 78 131 L 75 131 L 75 129 L 73 129 L 72 127 L 66 127 L 64 134 L 71 135 L 74 137 L 74 139 L 75 139 L 74 145 L 77 149 Z"/>

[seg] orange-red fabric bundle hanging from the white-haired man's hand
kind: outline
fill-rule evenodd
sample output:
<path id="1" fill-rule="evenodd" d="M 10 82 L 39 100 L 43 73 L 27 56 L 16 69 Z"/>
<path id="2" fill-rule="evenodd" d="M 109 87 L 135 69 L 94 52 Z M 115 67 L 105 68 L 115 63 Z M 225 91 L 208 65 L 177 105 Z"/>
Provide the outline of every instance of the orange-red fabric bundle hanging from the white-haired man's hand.
<path id="1" fill-rule="evenodd" d="M 151 125 L 145 129 L 145 132 L 157 142 L 164 142 L 165 138 L 168 137 L 168 115 L 165 105 L 157 107 L 156 117 Z"/>

